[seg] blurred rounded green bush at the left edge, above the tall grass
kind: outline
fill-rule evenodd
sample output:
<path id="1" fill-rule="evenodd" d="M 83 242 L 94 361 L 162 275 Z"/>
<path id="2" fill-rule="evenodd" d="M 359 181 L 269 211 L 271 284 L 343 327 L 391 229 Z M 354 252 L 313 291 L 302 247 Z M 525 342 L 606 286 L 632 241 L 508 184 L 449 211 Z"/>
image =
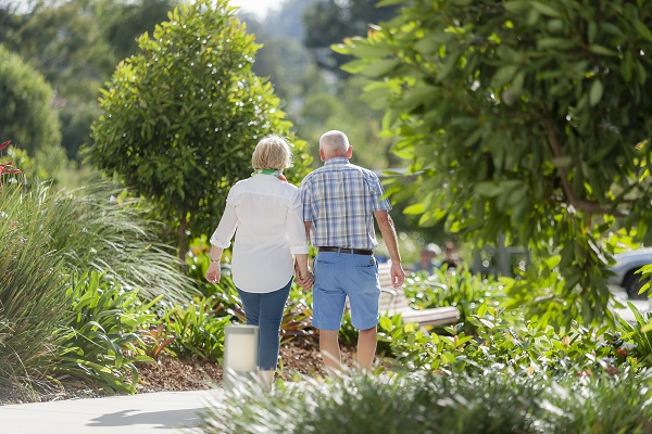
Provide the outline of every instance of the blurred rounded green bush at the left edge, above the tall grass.
<path id="1" fill-rule="evenodd" d="M 0 46 L 0 139 L 37 157 L 41 176 L 65 165 L 52 88 L 21 56 Z"/>

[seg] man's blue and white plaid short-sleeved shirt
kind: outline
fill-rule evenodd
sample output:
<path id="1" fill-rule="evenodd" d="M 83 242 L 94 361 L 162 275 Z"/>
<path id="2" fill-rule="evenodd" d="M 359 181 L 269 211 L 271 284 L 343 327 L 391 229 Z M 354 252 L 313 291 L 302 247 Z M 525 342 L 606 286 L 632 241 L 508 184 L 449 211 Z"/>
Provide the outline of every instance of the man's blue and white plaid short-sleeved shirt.
<path id="1" fill-rule="evenodd" d="M 343 156 L 328 158 L 301 182 L 303 220 L 316 247 L 374 250 L 374 212 L 390 210 L 380 180 Z"/>

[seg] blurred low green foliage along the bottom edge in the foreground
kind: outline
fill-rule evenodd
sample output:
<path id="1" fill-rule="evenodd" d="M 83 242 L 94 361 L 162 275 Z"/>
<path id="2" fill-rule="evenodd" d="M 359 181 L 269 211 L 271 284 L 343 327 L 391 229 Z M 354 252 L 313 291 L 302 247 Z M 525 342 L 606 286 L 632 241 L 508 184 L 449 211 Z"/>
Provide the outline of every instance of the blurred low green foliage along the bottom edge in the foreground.
<path id="1" fill-rule="evenodd" d="M 202 416 L 204 433 L 648 433 L 652 373 L 550 379 L 342 376 L 274 392 L 242 386 Z"/>

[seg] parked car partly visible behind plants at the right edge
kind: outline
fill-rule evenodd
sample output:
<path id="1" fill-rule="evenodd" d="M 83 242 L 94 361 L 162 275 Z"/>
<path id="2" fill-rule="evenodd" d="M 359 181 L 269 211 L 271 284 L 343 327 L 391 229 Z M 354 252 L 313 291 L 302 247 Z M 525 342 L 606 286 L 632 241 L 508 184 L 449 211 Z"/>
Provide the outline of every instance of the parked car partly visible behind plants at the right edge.
<path id="1" fill-rule="evenodd" d="M 630 299 L 645 299 L 648 294 L 639 294 L 641 286 L 650 281 L 650 278 L 641 281 L 641 275 L 637 271 L 644 265 L 652 264 L 652 248 L 638 248 L 636 251 L 617 253 L 614 255 L 616 264 L 609 269 L 615 275 L 609 278 L 607 283 L 622 286 Z"/>

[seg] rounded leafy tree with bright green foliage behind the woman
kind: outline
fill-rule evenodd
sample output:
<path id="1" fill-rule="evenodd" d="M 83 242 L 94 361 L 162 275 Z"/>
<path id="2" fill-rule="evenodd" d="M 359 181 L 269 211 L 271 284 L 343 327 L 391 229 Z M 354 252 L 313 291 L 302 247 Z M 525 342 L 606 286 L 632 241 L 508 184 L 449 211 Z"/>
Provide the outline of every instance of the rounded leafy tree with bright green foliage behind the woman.
<path id="1" fill-rule="evenodd" d="M 177 226 L 184 257 L 187 232 L 212 231 L 228 189 L 249 176 L 258 141 L 291 137 L 291 124 L 271 84 L 251 72 L 260 46 L 225 0 L 181 4 L 138 46 L 101 90 L 89 157 Z M 291 141 L 296 180 L 310 161 L 304 142 Z"/>

